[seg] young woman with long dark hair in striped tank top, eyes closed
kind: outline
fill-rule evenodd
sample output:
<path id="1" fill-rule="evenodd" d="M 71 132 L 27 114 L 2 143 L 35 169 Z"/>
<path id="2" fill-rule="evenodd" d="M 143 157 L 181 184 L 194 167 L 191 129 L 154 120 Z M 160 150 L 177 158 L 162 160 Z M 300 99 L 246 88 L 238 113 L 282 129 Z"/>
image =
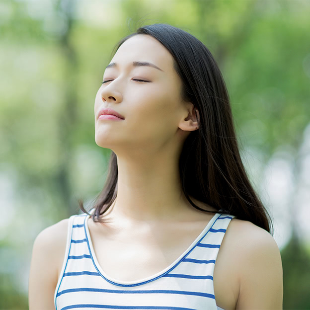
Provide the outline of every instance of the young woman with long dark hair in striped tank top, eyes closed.
<path id="1" fill-rule="evenodd" d="M 139 28 L 106 67 L 94 116 L 109 175 L 90 214 L 80 203 L 37 236 L 30 310 L 282 309 L 280 252 L 206 46 Z"/>

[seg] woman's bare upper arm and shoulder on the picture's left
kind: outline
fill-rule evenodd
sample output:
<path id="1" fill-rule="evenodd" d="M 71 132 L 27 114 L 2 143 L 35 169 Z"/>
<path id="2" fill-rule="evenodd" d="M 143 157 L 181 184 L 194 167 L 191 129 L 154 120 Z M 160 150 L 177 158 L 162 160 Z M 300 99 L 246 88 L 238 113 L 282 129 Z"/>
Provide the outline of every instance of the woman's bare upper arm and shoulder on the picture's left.
<path id="1" fill-rule="evenodd" d="M 46 228 L 34 241 L 29 273 L 29 310 L 55 310 L 54 292 L 65 255 L 68 221 Z"/>

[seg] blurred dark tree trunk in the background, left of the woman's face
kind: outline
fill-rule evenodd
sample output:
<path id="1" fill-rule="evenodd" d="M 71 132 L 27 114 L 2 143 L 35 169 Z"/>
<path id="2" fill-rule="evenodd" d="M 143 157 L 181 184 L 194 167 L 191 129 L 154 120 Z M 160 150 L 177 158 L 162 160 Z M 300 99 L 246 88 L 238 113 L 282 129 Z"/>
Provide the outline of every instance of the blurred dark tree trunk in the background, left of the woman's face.
<path id="1" fill-rule="evenodd" d="M 56 13 L 63 16 L 63 31 L 58 36 L 59 48 L 64 59 L 64 99 L 62 108 L 59 110 L 58 125 L 58 141 L 59 141 L 59 164 L 54 172 L 54 183 L 58 185 L 59 193 L 61 194 L 63 205 L 68 208 L 68 215 L 77 212 L 77 204 L 72 201 L 73 195 L 70 184 L 70 160 L 73 156 L 73 139 L 72 133 L 75 132 L 77 124 L 77 74 L 78 60 L 75 51 L 75 46 L 72 44 L 70 37 L 74 27 L 73 14 L 75 11 L 75 1 L 58 0 L 56 5 Z"/>

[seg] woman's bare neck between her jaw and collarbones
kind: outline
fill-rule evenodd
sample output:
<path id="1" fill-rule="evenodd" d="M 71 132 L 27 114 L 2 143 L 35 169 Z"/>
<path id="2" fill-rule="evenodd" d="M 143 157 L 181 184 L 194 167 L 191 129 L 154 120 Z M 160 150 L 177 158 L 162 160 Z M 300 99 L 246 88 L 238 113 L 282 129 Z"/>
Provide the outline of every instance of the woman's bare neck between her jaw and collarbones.
<path id="1" fill-rule="evenodd" d="M 188 211 L 176 156 L 167 151 L 153 156 L 128 157 L 127 153 L 118 154 L 117 162 L 117 197 L 110 207 L 113 218 L 135 223 L 171 221 Z"/>

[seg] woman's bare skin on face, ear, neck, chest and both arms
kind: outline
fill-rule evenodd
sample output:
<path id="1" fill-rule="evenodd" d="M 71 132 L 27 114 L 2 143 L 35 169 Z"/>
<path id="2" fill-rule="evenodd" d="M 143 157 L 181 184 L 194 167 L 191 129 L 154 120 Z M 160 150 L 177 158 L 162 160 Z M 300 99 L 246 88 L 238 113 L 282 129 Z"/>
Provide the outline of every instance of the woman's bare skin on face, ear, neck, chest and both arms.
<path id="1" fill-rule="evenodd" d="M 134 67 L 133 61 L 147 61 L 161 70 Z M 178 156 L 185 138 L 197 130 L 199 115 L 191 102 L 181 99 L 182 83 L 171 54 L 153 37 L 136 35 L 121 45 L 112 62 L 117 67 L 105 70 L 103 80 L 108 82 L 95 98 L 95 141 L 117 155 L 118 194 L 107 213 L 109 223 L 88 220 L 88 226 L 106 274 L 135 281 L 169 266 L 214 213 L 194 209 L 182 194 Z M 103 107 L 111 107 L 125 119 L 98 120 Z M 68 219 L 60 221 L 34 242 L 30 310 L 55 309 L 54 291 L 64 261 L 67 227 Z M 128 245 L 126 251 L 122 251 L 124 244 Z M 140 266 L 139 272 L 134 262 Z M 119 264 L 125 267 L 122 273 L 116 268 Z M 233 219 L 216 261 L 214 290 L 218 306 L 226 310 L 282 309 L 282 264 L 272 236 L 250 222 Z"/>

